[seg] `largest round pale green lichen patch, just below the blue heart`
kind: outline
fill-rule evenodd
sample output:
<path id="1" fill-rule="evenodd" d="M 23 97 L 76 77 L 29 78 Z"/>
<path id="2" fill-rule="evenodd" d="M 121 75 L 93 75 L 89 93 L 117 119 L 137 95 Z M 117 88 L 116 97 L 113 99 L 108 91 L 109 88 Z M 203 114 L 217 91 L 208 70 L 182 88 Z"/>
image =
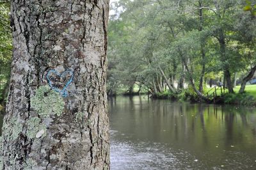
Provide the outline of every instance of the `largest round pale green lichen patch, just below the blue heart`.
<path id="1" fill-rule="evenodd" d="M 36 89 L 35 96 L 31 98 L 31 107 L 43 117 L 49 117 L 51 114 L 60 116 L 64 104 L 60 94 L 53 91 L 49 86 L 40 86 Z"/>

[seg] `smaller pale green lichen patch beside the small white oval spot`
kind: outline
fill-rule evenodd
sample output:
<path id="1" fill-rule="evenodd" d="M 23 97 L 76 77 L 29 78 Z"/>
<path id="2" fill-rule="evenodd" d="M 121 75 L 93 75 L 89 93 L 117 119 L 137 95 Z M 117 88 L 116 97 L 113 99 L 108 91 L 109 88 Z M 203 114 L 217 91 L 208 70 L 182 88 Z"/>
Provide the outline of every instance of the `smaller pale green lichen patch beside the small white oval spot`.
<path id="1" fill-rule="evenodd" d="M 46 125 L 44 123 L 41 123 L 41 119 L 40 118 L 30 118 L 27 122 L 28 124 L 28 130 L 26 132 L 26 135 L 29 137 L 29 139 L 35 139 L 36 138 L 36 134 L 40 131 L 40 130 L 44 130 L 46 132 Z M 44 135 L 42 135 L 42 137 L 44 137 L 46 135 L 46 133 Z"/>

